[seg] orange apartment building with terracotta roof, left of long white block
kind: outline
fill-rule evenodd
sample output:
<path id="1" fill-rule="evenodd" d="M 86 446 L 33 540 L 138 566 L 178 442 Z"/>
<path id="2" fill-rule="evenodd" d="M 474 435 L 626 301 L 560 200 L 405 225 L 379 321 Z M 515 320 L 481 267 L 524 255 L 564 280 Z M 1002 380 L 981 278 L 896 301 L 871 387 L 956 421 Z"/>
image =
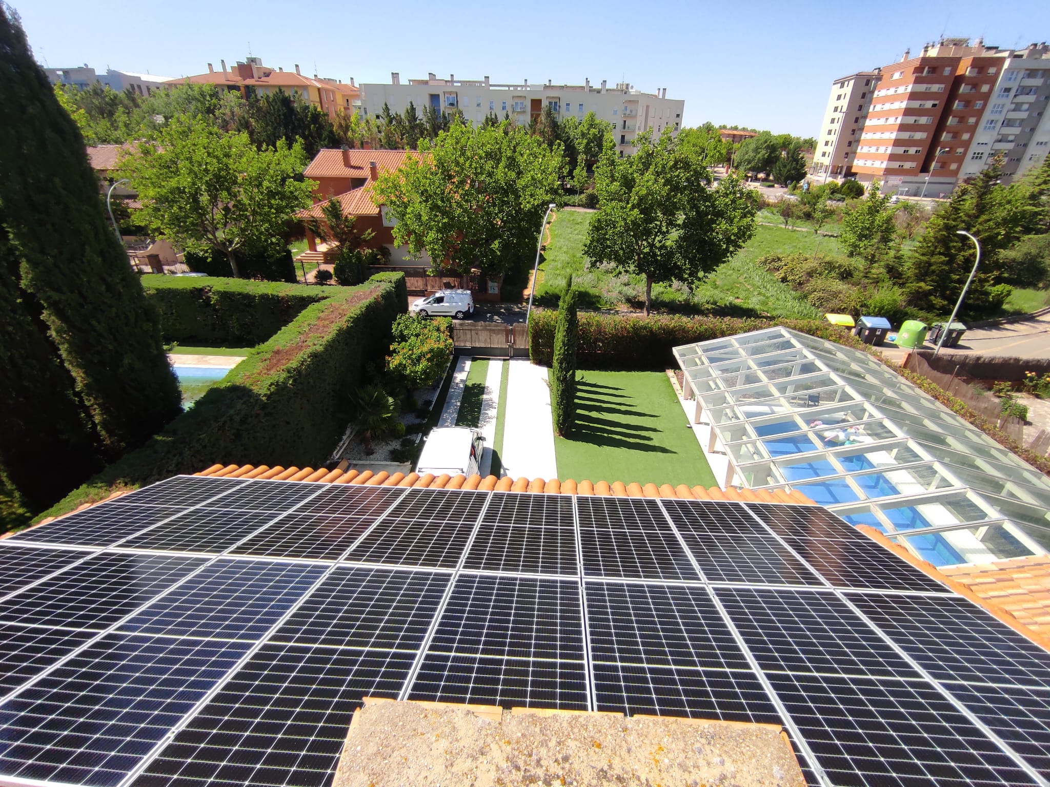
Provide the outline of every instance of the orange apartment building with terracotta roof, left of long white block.
<path id="1" fill-rule="evenodd" d="M 166 86 L 172 88 L 186 82 L 195 85 L 211 84 L 227 90 L 237 90 L 245 98 L 248 98 L 249 90 L 253 90 L 257 95 L 284 90 L 293 98 L 314 104 L 327 112 L 330 118 L 335 118 L 339 110 L 354 111 L 361 94 L 353 79 L 350 80 L 349 85 L 336 79 L 320 78 L 316 73 L 311 79 L 299 71 L 298 64 L 295 65 L 294 71 L 262 65 L 260 58 L 246 58 L 244 62 L 237 61 L 236 65 L 229 70 L 226 68 L 225 60 L 220 60 L 219 65 L 222 66 L 220 70 L 216 71 L 209 63 L 207 73 L 169 80 Z"/>

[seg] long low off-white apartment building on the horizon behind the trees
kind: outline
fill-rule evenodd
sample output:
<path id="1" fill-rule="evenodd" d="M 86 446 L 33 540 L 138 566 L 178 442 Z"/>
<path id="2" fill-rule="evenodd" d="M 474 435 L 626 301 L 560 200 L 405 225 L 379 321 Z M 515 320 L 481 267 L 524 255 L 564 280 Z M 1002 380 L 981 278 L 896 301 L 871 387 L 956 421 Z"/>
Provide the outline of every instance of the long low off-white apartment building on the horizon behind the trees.
<path id="1" fill-rule="evenodd" d="M 685 101 L 667 98 L 667 88 L 647 93 L 626 82 L 608 87 L 603 80 L 592 86 L 590 80 L 582 85 L 496 84 L 488 77 L 482 80 L 457 80 L 455 75 L 439 79 L 429 73 L 425 80 L 408 80 L 402 84 L 400 75 L 391 75 L 391 84 L 362 84 L 360 112 L 362 115 L 379 114 L 383 105 L 391 111 L 401 112 L 412 102 L 418 112 L 434 107 L 443 112 L 459 110 L 474 123 L 481 123 L 485 115 L 495 112 L 500 119 L 509 115 L 519 124 L 528 124 L 550 107 L 555 116 L 583 119 L 587 112 L 609 121 L 615 127 L 614 137 L 620 155 L 630 155 L 634 137 L 652 129 L 659 134 L 665 128 L 677 131 L 681 127 Z"/>

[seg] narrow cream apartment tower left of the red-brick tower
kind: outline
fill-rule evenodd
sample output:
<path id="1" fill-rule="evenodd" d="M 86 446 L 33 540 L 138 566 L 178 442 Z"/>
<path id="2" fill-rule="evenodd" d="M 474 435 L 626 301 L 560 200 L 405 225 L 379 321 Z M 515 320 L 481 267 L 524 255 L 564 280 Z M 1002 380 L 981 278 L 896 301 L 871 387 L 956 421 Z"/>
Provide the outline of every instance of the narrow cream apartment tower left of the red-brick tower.
<path id="1" fill-rule="evenodd" d="M 875 98 L 880 71 L 858 71 L 835 80 L 827 98 L 824 121 L 817 136 L 810 172 L 827 177 L 852 174 L 861 129 Z"/>

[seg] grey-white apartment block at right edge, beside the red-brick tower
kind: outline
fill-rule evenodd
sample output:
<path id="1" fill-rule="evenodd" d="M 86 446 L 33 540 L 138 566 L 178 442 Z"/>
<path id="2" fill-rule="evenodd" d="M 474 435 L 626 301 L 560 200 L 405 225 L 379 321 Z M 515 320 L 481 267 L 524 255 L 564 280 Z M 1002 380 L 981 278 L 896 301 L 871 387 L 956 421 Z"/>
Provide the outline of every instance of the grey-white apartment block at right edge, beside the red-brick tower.
<path id="1" fill-rule="evenodd" d="M 996 154 L 1003 174 L 1017 177 L 1050 152 L 1050 47 L 1031 44 L 1006 51 L 999 80 L 978 124 L 960 177 L 980 172 Z"/>

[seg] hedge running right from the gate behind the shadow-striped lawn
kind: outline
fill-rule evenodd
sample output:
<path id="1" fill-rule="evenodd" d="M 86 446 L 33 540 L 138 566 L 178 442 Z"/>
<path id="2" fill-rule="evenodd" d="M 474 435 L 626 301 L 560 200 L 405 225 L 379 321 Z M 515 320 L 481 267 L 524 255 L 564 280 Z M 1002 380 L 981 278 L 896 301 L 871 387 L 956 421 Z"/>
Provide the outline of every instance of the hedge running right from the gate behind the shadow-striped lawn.
<path id="1" fill-rule="evenodd" d="M 532 312 L 529 356 L 550 366 L 553 360 L 558 313 Z M 623 316 L 584 312 L 579 318 L 576 357 L 583 369 L 664 369 L 673 364 L 671 348 L 680 344 L 783 325 L 840 344 L 863 348 L 844 328 L 821 320 L 762 320 L 737 317 Z"/>

